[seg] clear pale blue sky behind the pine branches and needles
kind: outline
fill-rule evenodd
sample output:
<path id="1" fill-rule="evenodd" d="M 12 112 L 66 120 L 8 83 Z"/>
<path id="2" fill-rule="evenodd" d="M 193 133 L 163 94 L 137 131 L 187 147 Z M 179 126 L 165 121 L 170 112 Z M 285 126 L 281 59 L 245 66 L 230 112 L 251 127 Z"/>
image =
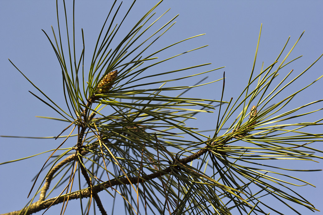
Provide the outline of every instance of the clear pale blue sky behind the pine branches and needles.
<path id="1" fill-rule="evenodd" d="M 148 11 L 158 1 L 138 1 L 124 23 L 124 32 L 131 27 L 143 13 Z M 121 7 L 121 13 L 130 5 L 125 1 Z M 0 135 L 12 136 L 55 136 L 67 125 L 59 122 L 46 121 L 35 116 L 53 116 L 57 114 L 46 105 L 32 96 L 28 90 L 37 93 L 36 89 L 11 65 L 8 58 L 24 74 L 32 80 L 58 104 L 65 103 L 62 97 L 61 70 L 54 51 L 47 40 L 44 29 L 52 37 L 51 25 L 57 32 L 55 1 L 1 1 L 0 2 L 0 77 L 2 80 L 1 91 L 1 124 Z M 106 1 L 79 1 L 76 3 L 76 32 L 78 32 L 78 50 L 82 48 L 80 29 L 85 34 L 85 57 L 90 59 L 93 54 L 94 44 L 101 26 L 109 11 L 110 4 Z M 203 45 L 209 45 L 196 52 L 183 55 L 177 60 L 163 65 L 162 69 L 182 68 L 203 63 L 212 63 L 203 71 L 225 66 L 209 75 L 213 81 L 226 74 L 225 100 L 237 97 L 244 89 L 253 66 L 255 49 L 261 24 L 262 35 L 255 71 L 270 65 L 276 59 L 289 36 L 287 45 L 289 50 L 298 37 L 305 30 L 293 50 L 289 59 L 303 55 L 300 59 L 286 69 L 294 69 L 294 76 L 305 70 L 323 53 L 323 28 L 322 28 L 322 1 L 168 1 L 165 0 L 157 9 L 156 17 L 159 17 L 167 9 L 171 10 L 161 20 L 166 22 L 175 15 L 176 24 L 161 38 L 158 47 L 164 47 L 179 40 L 199 34 L 204 36 L 194 38 L 189 42 L 176 46 L 170 52 L 161 54 L 161 59 L 170 56 L 169 53 L 179 54 Z M 68 5 L 68 13 L 71 7 Z M 61 11 L 61 14 L 62 11 Z M 62 17 L 61 17 L 62 18 Z M 120 23 L 118 21 L 117 23 Z M 161 24 L 160 24 L 161 25 Z M 285 53 L 287 54 L 287 53 Z M 288 93 L 293 93 L 300 87 L 310 84 L 323 74 L 323 59 L 320 59 L 304 77 L 297 82 L 295 88 L 289 88 Z M 198 70 L 195 70 L 196 72 Z M 196 82 L 196 80 L 193 80 Z M 192 83 L 193 83 L 192 82 Z M 182 83 L 184 85 L 184 83 Z M 186 84 L 186 83 L 185 83 Z M 291 107 L 298 107 L 322 98 L 322 80 L 311 86 L 305 93 L 297 97 Z M 181 84 L 180 84 L 181 85 Z M 191 97 L 210 96 L 219 99 L 222 82 L 197 89 Z M 202 97 L 203 97 L 202 96 Z M 281 98 L 282 99 L 282 98 Z M 294 105 L 294 106 L 293 106 Z M 320 108 L 317 106 L 316 108 Z M 314 108 L 315 109 L 315 108 Z M 310 115 L 306 120 L 314 121 L 322 118 L 322 112 Z M 212 126 L 212 119 L 201 115 L 194 126 L 207 129 Z M 51 123 L 51 124 L 48 124 Z M 313 133 L 322 131 L 317 127 Z M 59 144 L 53 139 L 18 139 L 0 138 L 1 151 L 0 163 L 8 160 L 19 159 L 34 155 Z M 70 142 L 70 145 L 73 143 Z M 67 146 L 70 147 L 70 146 Z M 323 150 L 323 147 L 316 144 Z M 322 156 L 322 155 L 320 155 Z M 31 159 L 14 162 L 0 166 L 2 177 L 0 188 L 5 195 L 0 196 L 0 213 L 21 209 L 26 203 L 26 196 L 32 186 L 32 179 L 38 173 L 48 154 Z M 322 169 L 322 163 L 296 162 L 298 169 Z M 296 167 L 294 167 L 296 168 Z M 293 173 L 293 176 L 301 177 L 314 184 L 310 186 L 296 187 L 300 194 L 312 202 L 319 210 L 323 211 L 321 198 L 323 193 L 322 172 Z M 40 183 L 40 181 L 38 181 Z M 78 204 L 74 202 L 71 204 Z M 71 205 L 69 205 L 71 207 Z M 277 204 L 277 207 L 282 205 Z M 57 214 L 60 206 L 53 207 L 47 214 Z M 311 211 L 297 208 L 303 214 L 311 214 Z M 282 209 L 285 214 L 293 214 L 288 209 Z M 268 210 L 270 212 L 270 210 Z M 320 213 L 320 212 L 317 212 Z M 271 214 L 275 214 L 271 212 Z"/>

